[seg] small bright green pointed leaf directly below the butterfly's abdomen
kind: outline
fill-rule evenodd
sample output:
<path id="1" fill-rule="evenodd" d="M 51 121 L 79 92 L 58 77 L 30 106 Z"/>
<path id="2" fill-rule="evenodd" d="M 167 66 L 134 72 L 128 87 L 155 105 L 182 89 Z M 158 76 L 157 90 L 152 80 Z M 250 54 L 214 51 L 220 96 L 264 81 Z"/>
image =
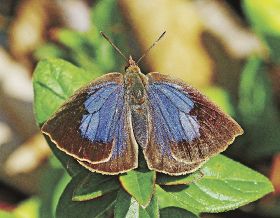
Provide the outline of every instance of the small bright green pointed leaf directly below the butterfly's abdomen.
<path id="1" fill-rule="evenodd" d="M 156 173 L 148 169 L 131 170 L 119 176 L 123 188 L 133 196 L 139 204 L 147 206 L 152 198 Z"/>

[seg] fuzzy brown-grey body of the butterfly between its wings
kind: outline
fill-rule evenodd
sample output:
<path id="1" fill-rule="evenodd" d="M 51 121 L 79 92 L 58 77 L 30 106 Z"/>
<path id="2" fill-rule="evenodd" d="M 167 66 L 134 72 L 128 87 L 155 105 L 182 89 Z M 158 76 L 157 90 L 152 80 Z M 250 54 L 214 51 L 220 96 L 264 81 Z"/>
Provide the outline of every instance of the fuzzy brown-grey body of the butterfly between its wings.
<path id="1" fill-rule="evenodd" d="M 146 80 L 146 76 L 141 73 L 135 62 L 127 67 L 124 75 L 127 102 L 131 110 L 134 136 L 142 147 L 146 147 L 148 143 Z"/>

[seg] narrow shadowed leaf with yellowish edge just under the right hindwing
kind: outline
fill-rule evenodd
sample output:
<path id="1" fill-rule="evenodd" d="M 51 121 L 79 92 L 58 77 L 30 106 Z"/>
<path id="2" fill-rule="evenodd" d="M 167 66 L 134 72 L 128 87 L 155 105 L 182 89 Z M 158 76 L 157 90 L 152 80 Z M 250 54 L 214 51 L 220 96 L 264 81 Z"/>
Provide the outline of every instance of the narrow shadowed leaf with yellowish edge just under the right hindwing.
<path id="1" fill-rule="evenodd" d="M 200 170 L 183 176 L 169 176 L 166 174 L 158 173 L 156 184 L 159 185 L 190 185 L 203 178 Z"/>

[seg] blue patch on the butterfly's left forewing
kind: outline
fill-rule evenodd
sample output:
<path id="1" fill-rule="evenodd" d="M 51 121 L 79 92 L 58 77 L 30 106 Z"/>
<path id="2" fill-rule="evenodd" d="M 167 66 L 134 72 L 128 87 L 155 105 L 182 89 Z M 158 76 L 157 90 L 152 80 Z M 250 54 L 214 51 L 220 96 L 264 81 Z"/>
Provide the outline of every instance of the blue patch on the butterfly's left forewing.
<path id="1" fill-rule="evenodd" d="M 123 98 L 124 88 L 118 84 L 93 87 L 84 103 L 88 114 L 83 115 L 79 127 L 82 137 L 92 142 L 110 142 L 123 107 Z"/>

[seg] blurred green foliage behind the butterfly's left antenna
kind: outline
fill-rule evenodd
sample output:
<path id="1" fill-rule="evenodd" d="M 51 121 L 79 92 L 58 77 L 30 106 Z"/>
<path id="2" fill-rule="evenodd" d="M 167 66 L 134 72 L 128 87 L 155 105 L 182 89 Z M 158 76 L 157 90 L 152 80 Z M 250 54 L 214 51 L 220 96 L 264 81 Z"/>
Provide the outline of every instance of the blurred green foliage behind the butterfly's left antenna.
<path id="1" fill-rule="evenodd" d="M 56 29 L 52 32 L 54 42 L 42 45 L 34 56 L 38 60 L 63 58 L 100 76 L 105 72 L 123 69 L 126 64 L 100 35 L 100 31 L 108 34 L 122 50 L 126 50 L 127 38 L 124 34 L 120 35 L 124 29 L 117 2 L 115 0 L 97 1 L 91 10 L 91 26 L 88 31 Z"/>

